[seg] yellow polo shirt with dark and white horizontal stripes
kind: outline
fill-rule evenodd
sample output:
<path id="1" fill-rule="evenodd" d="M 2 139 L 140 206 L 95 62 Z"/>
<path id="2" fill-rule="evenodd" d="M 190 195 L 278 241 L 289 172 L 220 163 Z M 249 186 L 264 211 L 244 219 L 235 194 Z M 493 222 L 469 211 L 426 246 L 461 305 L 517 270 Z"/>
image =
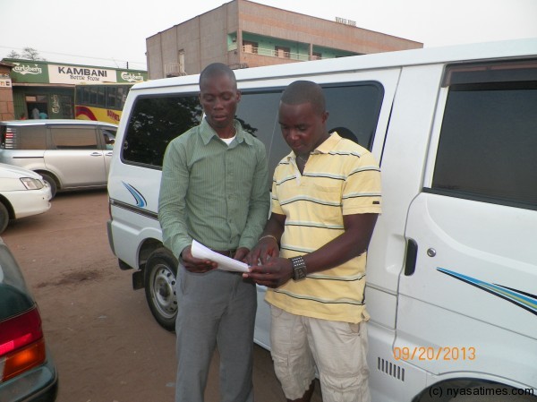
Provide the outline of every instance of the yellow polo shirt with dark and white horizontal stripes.
<path id="1" fill-rule="evenodd" d="M 294 153 L 274 172 L 272 211 L 286 216 L 280 257 L 319 249 L 344 232 L 343 216 L 380 213 L 380 170 L 369 150 L 337 133 L 311 152 L 303 175 Z M 298 315 L 360 322 L 365 312 L 366 253 L 332 269 L 268 289 L 269 304 Z"/>

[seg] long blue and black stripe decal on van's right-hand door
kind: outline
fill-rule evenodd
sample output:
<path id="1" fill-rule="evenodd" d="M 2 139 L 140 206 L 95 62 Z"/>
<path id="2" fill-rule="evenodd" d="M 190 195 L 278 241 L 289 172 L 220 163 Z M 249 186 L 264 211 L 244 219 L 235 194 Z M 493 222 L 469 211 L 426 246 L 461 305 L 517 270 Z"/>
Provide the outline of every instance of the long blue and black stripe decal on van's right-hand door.
<path id="1" fill-rule="evenodd" d="M 537 315 L 537 295 L 531 295 L 512 287 L 504 287 L 502 285 L 484 282 L 481 279 L 467 277 L 466 275 L 459 274 L 449 269 L 437 268 L 437 270 L 443 274 L 449 275 L 452 278 L 462 280 L 473 287 L 479 287 L 485 292 L 489 292 L 491 295 L 501 297 L 502 299 L 507 300 L 507 302 L 516 304 L 517 306 L 522 307 L 524 310 Z"/>

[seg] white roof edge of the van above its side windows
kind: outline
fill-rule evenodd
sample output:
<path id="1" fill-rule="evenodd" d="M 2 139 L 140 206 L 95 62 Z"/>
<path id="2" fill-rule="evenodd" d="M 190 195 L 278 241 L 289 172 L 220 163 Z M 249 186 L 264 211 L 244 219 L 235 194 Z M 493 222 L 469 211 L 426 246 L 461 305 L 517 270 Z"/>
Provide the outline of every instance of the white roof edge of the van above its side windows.
<path id="1" fill-rule="evenodd" d="M 362 56 L 339 57 L 336 59 L 310 62 L 277 64 L 235 70 L 237 81 L 253 81 L 260 78 L 271 79 L 282 76 L 307 76 L 329 72 L 345 73 L 351 71 L 381 69 L 405 65 L 476 62 L 487 59 L 537 56 L 537 38 L 483 42 L 448 47 L 426 47 L 422 49 L 401 50 Z M 131 90 L 165 88 L 198 84 L 200 74 L 165 78 L 136 84 Z"/>

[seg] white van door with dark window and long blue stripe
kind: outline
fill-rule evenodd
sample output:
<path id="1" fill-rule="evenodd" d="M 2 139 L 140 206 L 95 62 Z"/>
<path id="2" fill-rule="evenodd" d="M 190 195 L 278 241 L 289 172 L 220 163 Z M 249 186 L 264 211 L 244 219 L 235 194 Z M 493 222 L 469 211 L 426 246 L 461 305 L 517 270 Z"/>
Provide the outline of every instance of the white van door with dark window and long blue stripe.
<path id="1" fill-rule="evenodd" d="M 447 67 L 405 230 L 406 363 L 537 385 L 536 111 L 536 61 Z"/>

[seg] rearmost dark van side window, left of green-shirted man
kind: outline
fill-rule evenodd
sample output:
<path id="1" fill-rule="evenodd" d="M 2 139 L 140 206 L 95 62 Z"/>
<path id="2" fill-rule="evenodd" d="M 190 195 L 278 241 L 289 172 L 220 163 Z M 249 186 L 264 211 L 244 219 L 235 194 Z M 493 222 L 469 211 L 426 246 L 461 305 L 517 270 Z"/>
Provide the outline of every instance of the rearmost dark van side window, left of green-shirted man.
<path id="1" fill-rule="evenodd" d="M 132 107 L 124 136 L 125 163 L 162 168 L 167 144 L 200 124 L 201 107 L 197 95 L 141 97 Z"/>

